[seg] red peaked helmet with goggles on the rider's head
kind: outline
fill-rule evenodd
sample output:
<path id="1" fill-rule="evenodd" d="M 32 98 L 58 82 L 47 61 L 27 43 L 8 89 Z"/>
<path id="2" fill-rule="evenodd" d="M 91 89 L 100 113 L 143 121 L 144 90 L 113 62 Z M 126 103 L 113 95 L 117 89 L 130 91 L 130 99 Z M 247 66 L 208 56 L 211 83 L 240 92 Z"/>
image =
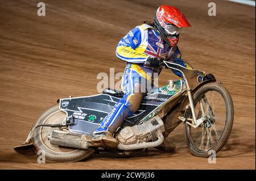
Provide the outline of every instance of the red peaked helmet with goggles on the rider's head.
<path id="1" fill-rule="evenodd" d="M 175 47 L 179 41 L 180 28 L 191 27 L 180 10 L 168 5 L 162 5 L 158 8 L 154 24 L 160 37 L 172 47 Z"/>

